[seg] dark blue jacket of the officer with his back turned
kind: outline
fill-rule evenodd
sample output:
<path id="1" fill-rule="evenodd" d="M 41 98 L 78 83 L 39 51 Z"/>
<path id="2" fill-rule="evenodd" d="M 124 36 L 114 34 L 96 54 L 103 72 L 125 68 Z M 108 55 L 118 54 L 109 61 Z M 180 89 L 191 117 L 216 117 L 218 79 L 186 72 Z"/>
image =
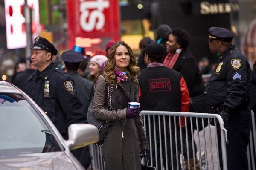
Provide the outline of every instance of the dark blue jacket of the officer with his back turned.
<path id="1" fill-rule="evenodd" d="M 75 81 L 77 98 L 84 104 L 85 115 L 87 117 L 88 107 L 93 98 L 94 84 L 92 81 L 79 75 L 76 71 L 67 71 L 67 74 Z"/>

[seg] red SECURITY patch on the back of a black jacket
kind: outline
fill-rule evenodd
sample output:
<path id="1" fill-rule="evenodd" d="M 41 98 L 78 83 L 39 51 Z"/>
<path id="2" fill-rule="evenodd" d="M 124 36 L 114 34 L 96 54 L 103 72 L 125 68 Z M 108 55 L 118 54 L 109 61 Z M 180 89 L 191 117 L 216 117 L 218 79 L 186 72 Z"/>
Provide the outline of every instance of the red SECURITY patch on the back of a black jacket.
<path id="1" fill-rule="evenodd" d="M 150 92 L 166 92 L 171 91 L 170 78 L 157 78 L 149 80 Z"/>

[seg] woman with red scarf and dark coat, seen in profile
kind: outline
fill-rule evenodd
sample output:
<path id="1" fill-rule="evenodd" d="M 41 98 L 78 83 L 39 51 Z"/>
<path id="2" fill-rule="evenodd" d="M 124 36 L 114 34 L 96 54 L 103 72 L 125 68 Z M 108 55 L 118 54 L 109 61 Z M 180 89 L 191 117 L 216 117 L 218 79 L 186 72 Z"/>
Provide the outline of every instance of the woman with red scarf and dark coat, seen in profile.
<path id="1" fill-rule="evenodd" d="M 207 113 L 206 96 L 204 95 L 205 85 L 202 81 L 202 74 L 198 68 L 198 63 L 195 57 L 187 49 L 189 45 L 189 34 L 180 28 L 172 30 L 172 34 L 169 35 L 168 41 L 166 42 L 168 55 L 164 59 L 163 65 L 169 68 L 175 69 L 183 75 L 189 89 L 190 96 L 190 107 L 189 112 L 202 112 Z M 201 121 L 198 120 L 198 123 Z M 187 125 L 190 127 L 190 119 L 187 120 Z M 204 124 L 207 126 L 207 122 Z M 200 126 L 200 124 L 199 124 Z M 193 122 L 193 127 L 196 125 Z M 202 128 L 202 127 L 201 127 Z M 188 128 L 189 136 L 189 154 L 186 150 L 186 132 L 183 128 L 183 150 L 185 157 L 186 169 L 188 169 L 188 161 L 190 168 L 194 168 L 193 153 L 192 153 L 192 136 Z M 199 128 L 199 130 L 202 130 Z M 195 144 L 195 142 L 194 142 Z M 196 149 L 195 149 L 196 152 Z M 189 160 L 188 160 L 189 155 Z M 199 169 L 199 163 L 195 161 L 196 168 Z"/>

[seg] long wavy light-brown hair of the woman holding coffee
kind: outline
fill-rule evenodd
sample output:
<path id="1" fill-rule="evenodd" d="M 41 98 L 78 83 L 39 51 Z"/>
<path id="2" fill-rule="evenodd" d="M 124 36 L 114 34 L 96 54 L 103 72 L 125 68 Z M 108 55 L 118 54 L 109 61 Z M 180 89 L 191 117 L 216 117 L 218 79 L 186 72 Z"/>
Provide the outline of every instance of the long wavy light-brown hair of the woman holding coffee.
<path id="1" fill-rule="evenodd" d="M 116 42 L 111 48 L 109 49 L 108 53 L 108 61 L 105 65 L 104 74 L 105 74 L 105 80 L 109 84 L 115 85 L 117 83 L 116 81 L 116 73 L 114 72 L 116 63 L 115 63 L 115 54 L 116 54 L 116 48 L 118 46 L 125 46 L 128 49 L 129 55 L 130 55 L 130 64 L 126 68 L 125 71 L 128 72 L 129 78 L 134 81 L 135 83 L 138 83 L 137 75 L 140 72 L 140 68 L 137 66 L 137 60 L 134 56 L 134 53 L 131 50 L 131 47 L 125 43 L 124 41 L 118 41 Z"/>

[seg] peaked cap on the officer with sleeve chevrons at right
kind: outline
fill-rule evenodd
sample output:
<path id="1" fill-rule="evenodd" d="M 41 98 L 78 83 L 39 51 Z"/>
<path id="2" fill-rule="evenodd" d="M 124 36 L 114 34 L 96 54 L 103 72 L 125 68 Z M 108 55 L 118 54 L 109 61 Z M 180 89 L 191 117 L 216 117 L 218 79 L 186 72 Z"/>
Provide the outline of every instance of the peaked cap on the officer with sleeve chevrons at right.
<path id="1" fill-rule="evenodd" d="M 230 43 L 233 37 L 235 37 L 232 31 L 221 27 L 211 27 L 209 33 L 209 40 L 221 40 Z"/>

